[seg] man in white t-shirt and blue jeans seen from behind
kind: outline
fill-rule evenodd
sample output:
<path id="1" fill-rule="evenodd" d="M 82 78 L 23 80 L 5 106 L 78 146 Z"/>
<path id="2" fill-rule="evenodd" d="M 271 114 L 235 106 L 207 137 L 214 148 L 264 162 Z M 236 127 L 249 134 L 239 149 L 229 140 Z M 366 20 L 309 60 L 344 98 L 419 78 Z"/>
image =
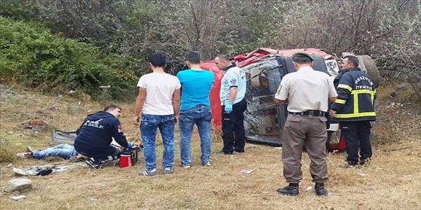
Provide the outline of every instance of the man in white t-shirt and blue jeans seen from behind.
<path id="1" fill-rule="evenodd" d="M 145 171 L 138 172 L 139 175 L 156 175 L 155 136 L 158 127 L 163 141 L 163 174 L 173 173 L 174 125 L 178 123 L 181 85 L 176 76 L 163 71 L 165 64 L 164 55 L 151 55 L 149 65 L 153 72 L 140 77 L 138 82 L 133 124 L 140 125 L 146 165 Z"/>

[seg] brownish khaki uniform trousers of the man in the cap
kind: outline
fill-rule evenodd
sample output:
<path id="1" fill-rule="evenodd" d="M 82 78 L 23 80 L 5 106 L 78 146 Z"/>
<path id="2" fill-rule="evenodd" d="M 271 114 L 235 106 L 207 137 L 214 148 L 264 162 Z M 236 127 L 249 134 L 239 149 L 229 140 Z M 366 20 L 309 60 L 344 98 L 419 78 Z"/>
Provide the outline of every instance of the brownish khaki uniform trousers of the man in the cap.
<path id="1" fill-rule="evenodd" d="M 283 128 L 282 144 L 283 176 L 287 183 L 300 183 L 303 151 L 307 152 L 311 160 L 312 181 L 328 181 L 327 139 L 325 117 L 288 115 Z"/>

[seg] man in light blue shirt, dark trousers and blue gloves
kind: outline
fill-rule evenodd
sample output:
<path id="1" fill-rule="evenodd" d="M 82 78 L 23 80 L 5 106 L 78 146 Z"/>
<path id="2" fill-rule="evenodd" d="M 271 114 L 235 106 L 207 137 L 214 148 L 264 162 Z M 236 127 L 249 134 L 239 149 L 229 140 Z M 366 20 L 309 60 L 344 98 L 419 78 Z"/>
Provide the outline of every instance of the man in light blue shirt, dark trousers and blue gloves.
<path id="1" fill-rule="evenodd" d="M 224 148 L 218 153 L 232 154 L 233 151 L 244 153 L 244 116 L 247 109 L 246 74 L 243 69 L 229 62 L 225 55 L 214 59 L 216 66 L 224 70 L 221 80 L 220 100 L 222 105 L 222 139 Z M 235 132 L 235 139 L 234 139 Z"/>

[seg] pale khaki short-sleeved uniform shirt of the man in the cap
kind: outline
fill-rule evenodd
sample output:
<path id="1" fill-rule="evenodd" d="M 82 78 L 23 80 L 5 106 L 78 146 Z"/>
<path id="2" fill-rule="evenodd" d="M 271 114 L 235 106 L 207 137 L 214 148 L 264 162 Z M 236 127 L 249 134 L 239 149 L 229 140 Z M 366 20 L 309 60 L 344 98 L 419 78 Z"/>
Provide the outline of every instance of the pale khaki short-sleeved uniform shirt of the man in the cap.
<path id="1" fill-rule="evenodd" d="M 337 97 L 333 80 L 327 73 L 303 66 L 298 71 L 283 76 L 275 99 L 288 99 L 288 111 L 328 111 L 328 98 Z"/>

